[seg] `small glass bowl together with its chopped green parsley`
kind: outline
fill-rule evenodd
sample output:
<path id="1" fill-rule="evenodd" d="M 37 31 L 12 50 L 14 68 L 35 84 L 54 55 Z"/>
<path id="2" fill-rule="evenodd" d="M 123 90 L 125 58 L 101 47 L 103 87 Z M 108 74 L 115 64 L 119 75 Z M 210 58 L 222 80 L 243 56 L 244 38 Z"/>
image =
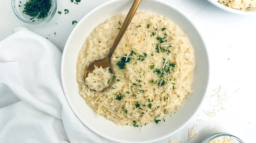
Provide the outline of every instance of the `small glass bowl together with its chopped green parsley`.
<path id="1" fill-rule="evenodd" d="M 45 24 L 57 9 L 57 0 L 11 0 L 15 15 L 27 24 Z"/>

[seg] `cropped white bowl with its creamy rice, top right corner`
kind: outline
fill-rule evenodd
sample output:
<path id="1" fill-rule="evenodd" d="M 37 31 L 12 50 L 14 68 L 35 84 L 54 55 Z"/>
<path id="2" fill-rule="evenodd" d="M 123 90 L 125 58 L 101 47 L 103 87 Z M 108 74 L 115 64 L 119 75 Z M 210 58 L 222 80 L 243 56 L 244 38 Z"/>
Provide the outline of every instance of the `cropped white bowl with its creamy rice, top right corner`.
<path id="1" fill-rule="evenodd" d="M 223 10 L 243 14 L 256 15 L 256 0 L 208 0 Z"/>

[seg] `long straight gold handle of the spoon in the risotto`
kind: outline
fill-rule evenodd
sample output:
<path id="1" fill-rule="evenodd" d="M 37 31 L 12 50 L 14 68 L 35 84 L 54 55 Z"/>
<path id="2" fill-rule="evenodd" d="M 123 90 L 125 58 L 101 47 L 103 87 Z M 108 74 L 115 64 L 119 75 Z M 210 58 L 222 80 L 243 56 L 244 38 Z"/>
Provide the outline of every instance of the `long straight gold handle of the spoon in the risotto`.
<path id="1" fill-rule="evenodd" d="M 109 51 L 109 54 L 107 56 L 107 59 L 110 59 L 112 54 L 114 53 L 114 51 L 116 50 L 117 48 L 117 45 L 119 44 L 120 40 L 122 39 L 123 35 L 124 35 L 124 32 L 126 31 L 127 27 L 129 26 L 129 24 L 131 23 L 132 21 L 132 18 L 137 10 L 137 8 L 139 7 L 139 3 L 141 2 L 141 0 L 135 0 L 130 11 L 128 12 L 124 22 L 123 22 L 123 25 L 121 26 L 121 29 L 119 31 L 119 33 L 117 34 L 117 38 L 116 40 L 114 41 L 114 44 L 113 46 L 111 47 L 110 51 Z"/>

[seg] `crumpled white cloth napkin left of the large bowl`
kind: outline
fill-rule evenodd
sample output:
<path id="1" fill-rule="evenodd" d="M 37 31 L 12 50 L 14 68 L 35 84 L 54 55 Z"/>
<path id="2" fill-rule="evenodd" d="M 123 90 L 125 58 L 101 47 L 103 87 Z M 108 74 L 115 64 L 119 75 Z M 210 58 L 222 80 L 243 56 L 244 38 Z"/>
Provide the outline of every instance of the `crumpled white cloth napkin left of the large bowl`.
<path id="1" fill-rule="evenodd" d="M 0 143 L 106 143 L 68 105 L 61 52 L 26 28 L 0 42 Z"/>

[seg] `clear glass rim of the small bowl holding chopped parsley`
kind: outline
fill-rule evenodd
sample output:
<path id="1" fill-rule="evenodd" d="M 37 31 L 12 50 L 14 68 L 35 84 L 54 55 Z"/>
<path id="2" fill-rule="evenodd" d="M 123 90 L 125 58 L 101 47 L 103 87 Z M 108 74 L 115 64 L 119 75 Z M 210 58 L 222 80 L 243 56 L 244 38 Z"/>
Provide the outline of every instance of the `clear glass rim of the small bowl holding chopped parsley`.
<path id="1" fill-rule="evenodd" d="M 53 10 L 51 11 L 51 13 L 42 21 L 37 21 L 37 22 L 29 22 L 29 21 L 26 21 L 24 20 L 23 18 L 20 17 L 20 14 L 17 12 L 18 9 L 15 7 L 15 2 L 17 0 L 11 0 L 11 8 L 14 12 L 14 14 L 16 15 L 16 17 L 21 20 L 22 22 L 26 23 L 26 24 L 31 24 L 31 25 L 41 25 L 41 24 L 45 24 L 47 22 L 49 22 L 53 16 L 55 15 L 56 11 L 57 11 L 57 0 L 52 0 L 52 7 L 53 7 Z"/>

